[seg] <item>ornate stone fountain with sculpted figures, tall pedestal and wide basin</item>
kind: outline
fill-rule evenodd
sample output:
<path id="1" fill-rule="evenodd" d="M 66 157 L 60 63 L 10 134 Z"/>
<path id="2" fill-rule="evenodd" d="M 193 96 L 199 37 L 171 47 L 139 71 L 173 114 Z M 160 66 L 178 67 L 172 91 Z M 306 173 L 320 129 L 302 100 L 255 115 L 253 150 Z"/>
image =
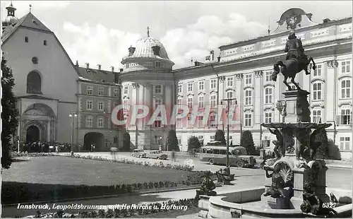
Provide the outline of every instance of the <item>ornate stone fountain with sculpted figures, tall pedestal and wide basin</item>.
<path id="1" fill-rule="evenodd" d="M 277 138 L 277 141 L 273 141 L 276 158 L 265 160 L 263 166 L 264 187 L 237 189 L 218 196 L 201 196 L 198 201 L 198 207 L 201 208 L 199 217 L 352 217 L 352 203 L 337 203 L 335 196 L 330 199 L 327 195 L 333 193 L 339 199 L 352 193 L 326 188 L 328 167 L 323 160 L 322 148 L 327 146 L 327 136 L 323 130 L 331 124 L 311 122 L 307 100 L 309 92 L 301 90 L 294 82 L 296 73 L 300 71 L 290 72 L 290 65 L 293 63 L 286 61 L 285 64 L 278 64 L 280 61 L 277 62 L 278 65 L 275 64 L 273 80 L 282 72 L 285 79 L 292 78 L 297 90 L 292 90 L 285 82 L 289 90 L 283 93 L 285 100 L 278 101 L 276 105 L 282 114 L 282 122 L 261 124 Z M 294 61 L 297 61 L 294 64 L 300 65 L 298 60 Z M 282 68 L 279 69 L 278 66 Z M 307 66 L 307 74 L 311 67 L 315 69 L 315 63 Z"/>

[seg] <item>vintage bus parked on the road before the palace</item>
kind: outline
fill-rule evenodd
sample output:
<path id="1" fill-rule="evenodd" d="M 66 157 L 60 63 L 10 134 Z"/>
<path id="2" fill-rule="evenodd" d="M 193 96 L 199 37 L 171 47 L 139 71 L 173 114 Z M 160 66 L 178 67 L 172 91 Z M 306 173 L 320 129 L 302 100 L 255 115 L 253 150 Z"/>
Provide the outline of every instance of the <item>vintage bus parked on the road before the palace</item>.
<path id="1" fill-rule="evenodd" d="M 242 146 L 229 146 L 228 154 L 230 167 L 253 167 L 256 164 L 253 156 L 248 155 Z M 226 165 L 227 146 L 201 147 L 200 160 L 210 165 Z"/>

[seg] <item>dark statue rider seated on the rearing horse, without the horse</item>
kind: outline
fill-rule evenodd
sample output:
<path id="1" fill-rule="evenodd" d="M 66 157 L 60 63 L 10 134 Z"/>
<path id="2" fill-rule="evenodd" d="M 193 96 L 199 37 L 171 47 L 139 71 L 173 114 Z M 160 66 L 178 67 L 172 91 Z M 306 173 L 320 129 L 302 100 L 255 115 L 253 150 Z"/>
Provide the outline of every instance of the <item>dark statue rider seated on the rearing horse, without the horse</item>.
<path id="1" fill-rule="evenodd" d="M 285 52 L 287 52 L 286 60 L 297 59 L 299 63 L 302 63 L 304 62 L 304 60 L 308 59 L 308 57 L 306 57 L 306 54 L 304 54 L 304 48 L 301 44 L 301 40 L 297 38 L 294 32 L 291 32 L 288 37 L 285 46 Z M 310 74 L 309 71 L 306 71 L 306 74 Z"/>

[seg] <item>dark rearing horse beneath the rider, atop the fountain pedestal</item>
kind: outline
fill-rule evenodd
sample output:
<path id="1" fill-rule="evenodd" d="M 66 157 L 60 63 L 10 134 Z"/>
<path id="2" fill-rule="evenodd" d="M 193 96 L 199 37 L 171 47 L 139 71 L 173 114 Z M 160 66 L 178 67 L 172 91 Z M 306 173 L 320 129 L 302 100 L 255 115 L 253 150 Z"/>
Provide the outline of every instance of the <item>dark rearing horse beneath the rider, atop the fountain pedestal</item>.
<path id="1" fill-rule="evenodd" d="M 311 68 L 311 65 L 309 65 L 311 63 L 311 61 L 313 62 L 312 68 L 313 68 L 313 70 L 315 70 L 316 64 L 313 61 L 312 57 L 309 57 L 309 59 L 305 57 L 305 58 L 302 58 L 301 60 L 287 59 L 285 61 L 277 61 L 273 65 L 272 79 L 273 79 L 273 81 L 277 81 L 277 74 L 281 72 L 283 74 L 283 76 L 285 76 L 285 80 L 283 81 L 283 83 L 285 83 L 285 85 L 287 85 L 288 90 L 293 90 L 291 88 L 291 86 L 289 86 L 289 84 L 287 83 L 288 78 L 291 78 L 291 82 L 297 87 L 297 90 L 301 90 L 299 85 L 294 81 L 294 78 L 297 75 L 297 73 L 299 73 L 303 70 L 306 72 L 307 75 L 310 74 L 310 72 L 308 71 L 308 66 Z"/>

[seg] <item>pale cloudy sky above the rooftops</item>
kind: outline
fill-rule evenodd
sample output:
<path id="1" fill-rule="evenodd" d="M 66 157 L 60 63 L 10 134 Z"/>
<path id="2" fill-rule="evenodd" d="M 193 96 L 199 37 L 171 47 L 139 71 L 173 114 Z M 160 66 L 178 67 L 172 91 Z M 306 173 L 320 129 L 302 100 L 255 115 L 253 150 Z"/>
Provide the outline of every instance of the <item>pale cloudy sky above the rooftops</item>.
<path id="1" fill-rule="evenodd" d="M 1 1 L 1 19 L 10 1 Z M 73 63 L 121 68 L 140 37 L 160 40 L 174 69 L 204 61 L 214 49 L 267 35 L 283 12 L 301 8 L 312 20 L 352 17 L 352 1 L 13 1 L 16 17 L 29 12 L 52 30 Z"/>

